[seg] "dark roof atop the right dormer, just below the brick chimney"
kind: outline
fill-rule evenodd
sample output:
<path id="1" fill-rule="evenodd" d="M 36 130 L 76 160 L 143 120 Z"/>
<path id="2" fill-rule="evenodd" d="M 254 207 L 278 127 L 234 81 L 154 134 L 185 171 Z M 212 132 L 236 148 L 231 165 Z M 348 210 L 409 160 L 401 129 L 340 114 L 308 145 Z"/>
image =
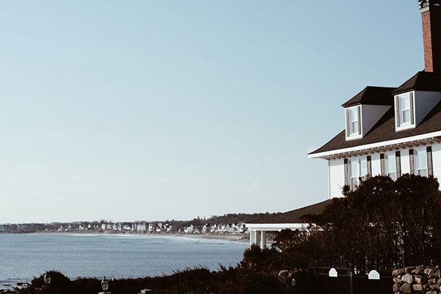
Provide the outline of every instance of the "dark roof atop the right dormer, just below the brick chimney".
<path id="1" fill-rule="evenodd" d="M 392 91 L 392 94 L 401 94 L 408 91 L 441 91 L 441 74 L 435 72 L 418 72 L 409 78 L 400 87 Z"/>

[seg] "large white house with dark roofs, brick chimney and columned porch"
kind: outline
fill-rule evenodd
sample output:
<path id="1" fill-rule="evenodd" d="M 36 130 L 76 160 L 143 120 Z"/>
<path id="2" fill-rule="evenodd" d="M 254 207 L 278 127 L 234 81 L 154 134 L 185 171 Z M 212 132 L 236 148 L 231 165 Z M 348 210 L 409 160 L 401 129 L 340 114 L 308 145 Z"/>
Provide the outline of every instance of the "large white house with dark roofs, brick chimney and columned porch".
<path id="1" fill-rule="evenodd" d="M 308 154 L 327 160 L 329 199 L 365 176 L 441 178 L 441 0 L 419 2 L 424 71 L 399 87 L 365 87 L 342 105 L 345 129 Z M 264 247 L 265 231 L 301 228 L 302 210 L 320 213 L 327 201 L 247 224 L 250 243 Z"/>

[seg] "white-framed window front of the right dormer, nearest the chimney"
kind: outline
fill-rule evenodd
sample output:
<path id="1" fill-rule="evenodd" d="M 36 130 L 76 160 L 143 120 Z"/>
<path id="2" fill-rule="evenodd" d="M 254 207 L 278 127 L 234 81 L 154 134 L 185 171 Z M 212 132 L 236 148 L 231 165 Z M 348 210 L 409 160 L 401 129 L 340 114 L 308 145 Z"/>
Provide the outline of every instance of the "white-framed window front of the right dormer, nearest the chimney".
<path id="1" fill-rule="evenodd" d="M 395 96 L 396 129 L 409 129 L 415 127 L 413 114 L 413 92 Z"/>

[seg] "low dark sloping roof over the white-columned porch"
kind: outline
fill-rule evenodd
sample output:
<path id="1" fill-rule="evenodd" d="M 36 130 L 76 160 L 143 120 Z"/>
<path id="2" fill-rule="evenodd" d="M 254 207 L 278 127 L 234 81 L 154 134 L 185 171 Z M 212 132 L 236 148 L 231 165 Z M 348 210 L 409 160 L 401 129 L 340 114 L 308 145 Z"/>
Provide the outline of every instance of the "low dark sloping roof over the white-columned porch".
<path id="1" fill-rule="evenodd" d="M 302 216 L 305 216 L 306 214 L 316 215 L 321 213 L 331 201 L 332 200 L 330 199 L 325 200 L 307 207 L 279 214 L 278 216 L 269 216 L 268 218 L 255 220 L 254 222 L 249 222 L 249 224 L 298 224 L 302 222 L 302 220 L 300 220 Z"/>

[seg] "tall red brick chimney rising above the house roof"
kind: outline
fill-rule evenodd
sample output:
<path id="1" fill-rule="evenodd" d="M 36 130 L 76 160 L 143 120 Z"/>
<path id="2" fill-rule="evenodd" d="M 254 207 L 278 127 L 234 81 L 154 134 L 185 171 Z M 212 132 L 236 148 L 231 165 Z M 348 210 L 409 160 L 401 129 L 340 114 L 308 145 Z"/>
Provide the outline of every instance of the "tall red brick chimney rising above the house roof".
<path id="1" fill-rule="evenodd" d="M 418 0 L 426 72 L 441 72 L 441 0 Z"/>

